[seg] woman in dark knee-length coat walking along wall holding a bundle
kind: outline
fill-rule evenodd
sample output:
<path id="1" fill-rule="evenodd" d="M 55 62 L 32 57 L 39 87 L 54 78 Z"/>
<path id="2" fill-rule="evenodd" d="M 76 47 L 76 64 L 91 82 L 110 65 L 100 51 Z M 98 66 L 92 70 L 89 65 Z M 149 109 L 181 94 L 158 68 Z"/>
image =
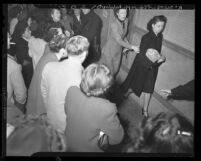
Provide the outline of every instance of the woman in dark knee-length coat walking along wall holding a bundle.
<path id="1" fill-rule="evenodd" d="M 161 47 L 163 40 L 163 30 L 167 18 L 163 15 L 154 16 L 147 24 L 149 32 L 145 34 L 140 43 L 140 54 L 138 54 L 133 62 L 133 65 L 128 73 L 128 76 L 122 84 L 122 89 L 126 92 L 129 88 L 140 97 L 143 94 L 143 110 L 142 114 L 148 117 L 148 105 L 151 94 L 154 91 L 154 86 L 158 74 L 158 67 L 165 62 L 165 57 L 162 56 Z M 152 62 L 147 56 L 147 49 L 155 49 L 161 55 L 160 59 Z"/>

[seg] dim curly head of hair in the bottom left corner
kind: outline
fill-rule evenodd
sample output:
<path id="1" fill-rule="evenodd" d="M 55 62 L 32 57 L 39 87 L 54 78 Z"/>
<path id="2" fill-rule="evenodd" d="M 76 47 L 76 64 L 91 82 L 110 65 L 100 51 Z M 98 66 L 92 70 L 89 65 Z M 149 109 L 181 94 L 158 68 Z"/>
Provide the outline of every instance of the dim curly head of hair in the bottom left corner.
<path id="1" fill-rule="evenodd" d="M 46 152 L 65 152 L 65 136 L 53 128 L 46 115 L 22 117 L 7 139 L 7 155 L 31 156 L 44 149 Z"/>

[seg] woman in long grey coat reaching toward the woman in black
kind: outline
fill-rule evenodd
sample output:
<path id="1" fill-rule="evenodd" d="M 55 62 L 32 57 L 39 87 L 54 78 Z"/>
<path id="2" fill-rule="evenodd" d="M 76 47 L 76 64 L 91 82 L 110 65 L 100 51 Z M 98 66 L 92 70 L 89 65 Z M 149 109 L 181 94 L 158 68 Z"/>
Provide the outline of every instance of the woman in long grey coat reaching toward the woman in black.
<path id="1" fill-rule="evenodd" d="M 127 33 L 128 19 L 127 9 L 114 9 L 115 20 L 111 23 L 108 40 L 103 46 L 101 62 L 106 64 L 114 76 L 120 68 L 122 47 L 139 52 L 137 46 L 131 45 L 125 38 Z"/>

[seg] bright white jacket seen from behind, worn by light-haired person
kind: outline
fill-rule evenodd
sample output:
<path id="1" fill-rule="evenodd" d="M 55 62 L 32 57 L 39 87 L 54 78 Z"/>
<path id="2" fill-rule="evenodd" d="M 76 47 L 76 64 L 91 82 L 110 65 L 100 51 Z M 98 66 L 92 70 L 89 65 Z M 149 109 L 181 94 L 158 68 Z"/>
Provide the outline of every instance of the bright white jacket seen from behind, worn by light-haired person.
<path id="1" fill-rule="evenodd" d="M 70 86 L 79 87 L 82 70 L 81 62 L 69 57 L 46 64 L 42 72 L 41 92 L 47 116 L 54 128 L 62 133 L 66 127 L 65 96 Z"/>

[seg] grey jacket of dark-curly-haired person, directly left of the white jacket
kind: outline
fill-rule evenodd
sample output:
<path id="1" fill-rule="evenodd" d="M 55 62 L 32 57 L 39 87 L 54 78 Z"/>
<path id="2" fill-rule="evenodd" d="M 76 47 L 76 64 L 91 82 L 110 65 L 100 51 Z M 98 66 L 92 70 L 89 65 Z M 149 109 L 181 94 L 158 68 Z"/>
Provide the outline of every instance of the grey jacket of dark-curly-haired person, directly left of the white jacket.
<path id="1" fill-rule="evenodd" d="M 46 113 L 40 89 L 42 71 L 44 69 L 44 66 L 48 62 L 55 62 L 55 61 L 58 61 L 56 55 L 50 52 L 48 50 L 48 47 L 46 46 L 45 53 L 43 54 L 43 56 L 41 57 L 35 68 L 32 81 L 28 90 L 28 100 L 26 105 L 27 114 L 40 115 Z"/>

